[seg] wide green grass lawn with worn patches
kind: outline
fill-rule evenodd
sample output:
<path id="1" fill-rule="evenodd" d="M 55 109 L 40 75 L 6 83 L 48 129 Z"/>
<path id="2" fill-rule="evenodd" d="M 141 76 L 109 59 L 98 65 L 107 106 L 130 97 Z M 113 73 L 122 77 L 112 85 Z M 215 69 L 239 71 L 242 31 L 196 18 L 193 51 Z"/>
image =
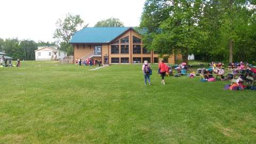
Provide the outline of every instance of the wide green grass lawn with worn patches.
<path id="1" fill-rule="evenodd" d="M 0 143 L 256 143 L 256 93 L 166 77 L 154 65 L 0 68 Z"/>

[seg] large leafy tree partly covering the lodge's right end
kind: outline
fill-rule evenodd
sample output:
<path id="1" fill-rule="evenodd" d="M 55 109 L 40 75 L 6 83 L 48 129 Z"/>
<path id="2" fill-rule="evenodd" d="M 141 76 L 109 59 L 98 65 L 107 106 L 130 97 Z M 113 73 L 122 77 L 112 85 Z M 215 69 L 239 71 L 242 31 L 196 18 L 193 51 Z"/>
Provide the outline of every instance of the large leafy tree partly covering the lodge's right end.
<path id="1" fill-rule="evenodd" d="M 148 30 L 143 41 L 160 54 L 180 52 L 187 62 L 188 54 L 196 49 L 201 37 L 200 6 L 201 1 L 147 1 L 141 20 L 141 27 Z M 152 22 L 157 22 L 154 27 Z"/>

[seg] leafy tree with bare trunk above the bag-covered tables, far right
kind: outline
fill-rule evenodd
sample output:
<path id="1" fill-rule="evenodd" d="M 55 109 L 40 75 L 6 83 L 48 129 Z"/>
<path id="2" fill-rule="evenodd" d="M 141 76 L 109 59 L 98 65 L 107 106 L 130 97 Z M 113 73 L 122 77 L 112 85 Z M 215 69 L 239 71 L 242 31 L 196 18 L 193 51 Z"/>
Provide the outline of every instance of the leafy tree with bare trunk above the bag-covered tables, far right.
<path id="1" fill-rule="evenodd" d="M 244 51 L 252 49 L 244 49 L 245 45 L 249 46 L 244 38 L 251 35 L 250 19 L 255 13 L 255 9 L 249 9 L 251 4 L 249 1 L 205 1 L 204 17 L 199 25 L 207 34 L 201 49 L 207 51 L 204 53 L 207 58 L 229 62 L 247 59 Z"/>

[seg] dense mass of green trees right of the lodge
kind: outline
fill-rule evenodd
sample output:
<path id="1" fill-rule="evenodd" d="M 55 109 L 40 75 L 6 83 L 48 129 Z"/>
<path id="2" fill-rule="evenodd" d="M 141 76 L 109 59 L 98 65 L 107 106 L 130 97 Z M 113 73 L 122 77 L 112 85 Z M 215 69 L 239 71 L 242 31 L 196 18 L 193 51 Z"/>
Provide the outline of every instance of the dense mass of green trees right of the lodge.
<path id="1" fill-rule="evenodd" d="M 255 61 L 256 1 L 146 0 L 143 42 L 160 54 L 223 62 Z"/>

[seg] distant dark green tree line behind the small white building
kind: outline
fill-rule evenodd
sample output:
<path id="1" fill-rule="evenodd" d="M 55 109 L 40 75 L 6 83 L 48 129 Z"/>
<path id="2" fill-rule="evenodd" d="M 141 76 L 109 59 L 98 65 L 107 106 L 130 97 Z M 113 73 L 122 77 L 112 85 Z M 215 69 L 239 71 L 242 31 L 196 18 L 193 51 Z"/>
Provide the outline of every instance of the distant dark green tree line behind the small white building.
<path id="1" fill-rule="evenodd" d="M 0 38 L 0 52 L 4 52 L 13 59 L 35 60 L 35 50 L 38 46 L 55 46 L 55 43 L 32 41 L 30 39 Z"/>

